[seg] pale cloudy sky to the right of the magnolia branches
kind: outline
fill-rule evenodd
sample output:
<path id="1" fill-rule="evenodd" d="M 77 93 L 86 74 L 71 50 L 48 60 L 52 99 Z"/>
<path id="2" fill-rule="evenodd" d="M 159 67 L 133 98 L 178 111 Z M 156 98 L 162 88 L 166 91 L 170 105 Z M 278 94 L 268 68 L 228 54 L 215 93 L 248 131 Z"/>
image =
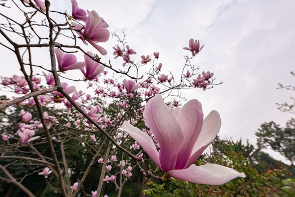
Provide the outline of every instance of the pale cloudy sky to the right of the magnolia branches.
<path id="1" fill-rule="evenodd" d="M 183 95 L 198 99 L 205 115 L 211 110 L 220 113 L 220 136 L 255 144 L 255 131 L 263 122 L 273 120 L 284 126 L 292 116 L 277 110 L 275 103 L 291 102 L 289 97 L 294 96 L 294 92 L 277 89 L 278 83 L 295 84 L 290 75 L 295 71 L 294 0 L 77 2 L 80 8 L 103 17 L 110 31 L 124 31 L 138 55 L 159 52 L 167 72 L 179 73 L 183 56 L 189 54 L 182 48 L 190 38 L 205 44 L 192 63 L 201 72 L 213 72 L 216 82 L 223 84 L 206 91 L 185 90 Z M 70 0 L 51 0 L 51 4 L 53 9 L 71 13 Z M 113 43 L 110 38 L 101 45 L 109 52 L 106 62 L 113 59 Z M 268 152 L 285 161 L 278 153 Z"/>

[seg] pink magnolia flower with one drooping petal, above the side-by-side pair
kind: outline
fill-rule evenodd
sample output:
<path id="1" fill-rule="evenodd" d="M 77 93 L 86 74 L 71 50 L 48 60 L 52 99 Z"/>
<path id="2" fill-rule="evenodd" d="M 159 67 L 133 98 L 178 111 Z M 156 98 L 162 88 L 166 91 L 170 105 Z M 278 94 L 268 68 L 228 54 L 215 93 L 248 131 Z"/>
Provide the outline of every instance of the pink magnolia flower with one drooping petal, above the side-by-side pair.
<path id="1" fill-rule="evenodd" d="M 110 32 L 106 29 L 109 25 L 94 10 L 87 11 L 87 13 L 85 29 L 82 30 L 82 27 L 76 23 L 72 23 L 72 26 L 78 30 L 77 33 L 85 44 L 89 42 L 101 55 L 107 55 L 107 51 L 96 43 L 109 40 Z"/>

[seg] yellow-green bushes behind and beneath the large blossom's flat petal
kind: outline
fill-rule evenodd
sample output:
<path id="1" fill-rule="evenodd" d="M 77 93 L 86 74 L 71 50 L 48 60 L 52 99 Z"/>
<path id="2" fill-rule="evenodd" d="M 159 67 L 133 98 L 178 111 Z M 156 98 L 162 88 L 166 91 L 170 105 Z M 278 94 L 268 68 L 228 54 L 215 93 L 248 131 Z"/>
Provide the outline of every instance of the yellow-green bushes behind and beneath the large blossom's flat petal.
<path id="1" fill-rule="evenodd" d="M 258 158 L 253 155 L 259 150 L 242 141 L 221 140 L 216 138 L 211 152 L 199 158 L 198 165 L 220 164 L 243 171 L 246 178 L 236 178 L 226 184 L 211 186 L 187 183 L 170 179 L 166 182 L 149 182 L 144 191 L 147 197 L 288 197 L 294 189 L 294 179 L 286 179 L 289 171 L 285 168 L 256 169 Z M 264 153 L 266 154 L 266 153 Z"/>

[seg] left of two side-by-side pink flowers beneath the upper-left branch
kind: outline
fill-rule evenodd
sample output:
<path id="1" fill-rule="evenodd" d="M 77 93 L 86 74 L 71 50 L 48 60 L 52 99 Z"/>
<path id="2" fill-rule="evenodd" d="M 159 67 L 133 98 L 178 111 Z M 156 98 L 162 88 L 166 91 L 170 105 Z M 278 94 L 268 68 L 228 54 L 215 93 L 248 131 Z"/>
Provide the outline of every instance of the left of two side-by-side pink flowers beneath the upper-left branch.
<path id="1" fill-rule="evenodd" d="M 77 58 L 74 54 L 64 54 L 59 48 L 55 49 L 55 54 L 58 59 L 59 70 L 61 72 L 82 69 L 84 67 L 84 62 L 77 62 Z"/>

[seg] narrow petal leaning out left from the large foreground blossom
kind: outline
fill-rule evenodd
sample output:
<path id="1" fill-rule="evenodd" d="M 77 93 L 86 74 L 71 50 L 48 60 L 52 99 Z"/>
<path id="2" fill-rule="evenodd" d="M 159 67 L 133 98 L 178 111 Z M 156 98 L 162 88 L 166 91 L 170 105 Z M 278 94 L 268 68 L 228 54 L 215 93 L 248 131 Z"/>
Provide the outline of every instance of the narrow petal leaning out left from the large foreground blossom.
<path id="1" fill-rule="evenodd" d="M 132 126 L 127 121 L 123 122 L 122 129 L 126 131 L 134 140 L 136 140 L 148 153 L 148 156 L 154 161 L 157 167 L 162 169 L 159 160 L 159 152 L 157 151 L 154 142 L 148 136 L 148 134 Z"/>

